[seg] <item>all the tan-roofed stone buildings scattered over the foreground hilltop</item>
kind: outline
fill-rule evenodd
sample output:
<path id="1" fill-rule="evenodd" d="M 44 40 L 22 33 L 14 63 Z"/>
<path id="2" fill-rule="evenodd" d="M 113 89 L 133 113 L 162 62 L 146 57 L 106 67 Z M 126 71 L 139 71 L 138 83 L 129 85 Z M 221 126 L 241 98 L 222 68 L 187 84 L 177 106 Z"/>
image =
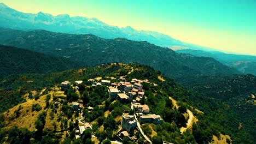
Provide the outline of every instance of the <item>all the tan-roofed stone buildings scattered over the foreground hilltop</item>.
<path id="1" fill-rule="evenodd" d="M 137 101 L 141 99 L 147 99 L 145 95 L 145 91 L 143 90 L 143 82 L 149 83 L 148 80 L 137 80 L 132 79 L 131 82 L 125 81 L 124 77 L 120 77 L 120 82 L 111 83 L 110 80 L 101 80 L 101 82 L 95 82 L 94 79 L 89 79 L 91 81 L 92 86 L 103 85 L 108 87 L 109 99 L 114 100 L 118 99 L 122 103 L 130 103 L 131 101 L 131 109 L 135 112 L 135 115 L 129 115 L 128 111 L 123 113 L 123 119 L 121 123 L 121 127 L 123 130 L 119 131 L 120 136 L 129 136 L 129 133 L 133 131 L 137 127 L 137 123 L 154 123 L 154 124 L 162 124 L 163 120 L 159 115 L 150 114 L 149 106 L 145 104 L 137 103 Z M 75 81 L 75 85 L 80 85 L 83 81 Z M 61 83 L 62 87 L 70 86 L 69 81 L 65 81 Z M 154 86 L 158 86 L 153 83 Z M 74 109 L 79 108 L 79 103 L 73 102 L 71 107 Z M 89 123 L 88 123 L 89 124 Z M 86 128 L 91 128 L 90 124 L 86 126 L 79 126 L 77 129 L 77 134 L 83 134 L 83 131 Z"/>

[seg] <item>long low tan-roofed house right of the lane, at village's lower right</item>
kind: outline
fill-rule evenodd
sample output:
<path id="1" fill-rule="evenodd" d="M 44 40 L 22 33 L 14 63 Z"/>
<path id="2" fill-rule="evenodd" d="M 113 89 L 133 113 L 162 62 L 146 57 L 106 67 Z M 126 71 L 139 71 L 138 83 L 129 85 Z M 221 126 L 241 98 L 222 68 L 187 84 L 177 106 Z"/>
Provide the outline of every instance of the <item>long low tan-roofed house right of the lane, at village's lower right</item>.
<path id="1" fill-rule="evenodd" d="M 154 124 L 162 124 L 163 120 L 159 115 L 138 115 L 138 121 L 140 124 L 143 123 L 154 123 Z"/>

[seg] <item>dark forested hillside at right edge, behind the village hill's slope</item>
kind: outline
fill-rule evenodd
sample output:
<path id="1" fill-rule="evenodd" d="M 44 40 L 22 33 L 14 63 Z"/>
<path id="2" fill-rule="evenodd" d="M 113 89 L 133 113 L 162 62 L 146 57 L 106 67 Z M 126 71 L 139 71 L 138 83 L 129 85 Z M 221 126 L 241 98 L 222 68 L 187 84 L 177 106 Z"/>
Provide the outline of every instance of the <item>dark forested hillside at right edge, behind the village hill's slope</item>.
<path id="1" fill-rule="evenodd" d="M 212 104 L 206 107 L 209 108 L 209 112 L 222 109 L 220 111 L 225 119 L 220 122 L 225 125 L 226 131 L 236 131 L 236 133 L 231 133 L 231 137 L 236 137 L 234 139 L 236 142 L 253 143 L 253 135 L 256 134 L 254 96 L 256 95 L 256 76 L 211 76 L 187 78 L 181 81 L 184 87 L 201 97 L 202 101 L 212 99 L 220 104 L 218 107 Z M 193 98 L 189 98 L 189 101 L 193 101 L 191 99 Z M 199 109 L 204 109 L 202 103 L 196 105 L 199 106 Z M 217 117 L 215 118 L 217 119 Z"/>

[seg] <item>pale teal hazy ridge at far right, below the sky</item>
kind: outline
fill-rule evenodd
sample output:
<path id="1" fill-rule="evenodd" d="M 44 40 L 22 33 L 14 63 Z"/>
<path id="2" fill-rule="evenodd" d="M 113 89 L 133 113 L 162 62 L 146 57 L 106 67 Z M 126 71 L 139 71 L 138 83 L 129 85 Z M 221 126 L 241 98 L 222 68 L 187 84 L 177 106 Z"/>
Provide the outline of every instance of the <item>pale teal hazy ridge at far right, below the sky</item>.
<path id="1" fill-rule="evenodd" d="M 236 68 L 243 74 L 256 75 L 256 56 L 227 54 L 217 51 L 206 52 L 192 49 L 177 50 L 176 52 L 189 53 L 194 56 L 212 57 L 219 62 L 229 65 L 230 67 Z"/>

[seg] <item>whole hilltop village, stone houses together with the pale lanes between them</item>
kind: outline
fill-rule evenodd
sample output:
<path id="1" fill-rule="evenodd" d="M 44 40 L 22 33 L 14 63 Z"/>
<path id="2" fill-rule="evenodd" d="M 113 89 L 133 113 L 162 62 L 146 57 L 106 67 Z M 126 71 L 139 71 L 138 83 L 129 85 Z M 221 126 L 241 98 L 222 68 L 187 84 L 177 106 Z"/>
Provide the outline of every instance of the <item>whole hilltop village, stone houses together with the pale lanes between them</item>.
<path id="1" fill-rule="evenodd" d="M 100 78 L 100 79 L 99 79 Z M 115 79 L 114 77 L 111 77 Z M 83 81 L 78 80 L 71 82 L 64 81 L 61 83 L 62 88 L 73 87 L 79 89 L 79 86 Z M 108 97 L 110 101 L 120 101 L 122 104 L 131 103 L 130 109 L 123 111 L 121 129 L 114 134 L 115 142 L 123 142 L 124 137 L 132 142 L 137 141 L 136 136 L 133 136 L 134 130 L 138 128 L 139 132 L 142 134 L 143 143 L 152 143 L 147 135 L 144 134 L 141 124 L 154 123 L 162 124 L 163 119 L 160 115 L 156 113 L 150 113 L 149 106 L 146 104 L 138 103 L 141 99 L 147 99 L 145 90 L 143 89 L 143 83 L 153 85 L 157 87 L 156 83 L 152 83 L 149 80 L 137 80 L 132 79 L 131 81 L 126 81 L 125 77 L 119 77 L 117 82 L 111 82 L 111 80 L 103 80 L 101 77 L 96 79 L 89 79 L 87 83 L 91 83 L 91 87 L 104 86 L 108 89 Z M 75 110 L 82 111 L 82 109 L 87 109 L 93 111 L 94 107 L 88 106 L 84 107 L 82 103 L 77 101 L 72 101 L 70 107 Z M 79 119 L 79 126 L 75 129 L 75 137 L 80 137 L 86 129 L 92 129 L 92 125 L 88 122 L 83 122 L 83 113 L 81 113 L 81 118 Z M 165 142 L 168 143 L 168 142 Z"/>

